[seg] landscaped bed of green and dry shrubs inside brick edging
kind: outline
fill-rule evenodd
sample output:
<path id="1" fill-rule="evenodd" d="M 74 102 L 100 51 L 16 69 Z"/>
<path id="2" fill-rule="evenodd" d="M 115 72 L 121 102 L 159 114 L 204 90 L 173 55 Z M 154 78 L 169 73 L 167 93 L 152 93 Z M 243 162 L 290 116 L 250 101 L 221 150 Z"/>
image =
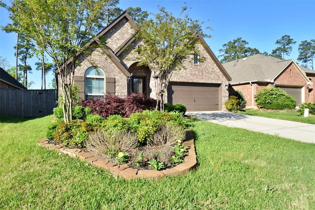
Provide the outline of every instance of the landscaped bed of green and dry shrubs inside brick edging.
<path id="1" fill-rule="evenodd" d="M 48 129 L 47 138 L 136 169 L 163 170 L 184 162 L 186 131 L 179 112 L 145 110 L 129 118 L 111 115 L 105 120 L 95 114 L 86 116 L 90 117 L 68 124 L 60 119 L 55 121 Z"/>

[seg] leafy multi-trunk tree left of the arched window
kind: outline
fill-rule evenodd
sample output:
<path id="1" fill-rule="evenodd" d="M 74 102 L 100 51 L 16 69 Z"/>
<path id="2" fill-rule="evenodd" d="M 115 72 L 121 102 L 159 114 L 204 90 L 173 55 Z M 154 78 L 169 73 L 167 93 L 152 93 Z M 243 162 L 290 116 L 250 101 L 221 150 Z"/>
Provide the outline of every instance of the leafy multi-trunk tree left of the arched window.
<path id="1" fill-rule="evenodd" d="M 9 8 L 11 30 L 32 39 L 37 51 L 44 49 L 57 66 L 65 123 L 72 120 L 71 93 L 75 67 L 79 65 L 77 56 L 91 49 L 84 45 L 93 37 L 107 4 L 108 0 L 12 0 Z M 14 27 L 17 24 L 19 27 Z"/>

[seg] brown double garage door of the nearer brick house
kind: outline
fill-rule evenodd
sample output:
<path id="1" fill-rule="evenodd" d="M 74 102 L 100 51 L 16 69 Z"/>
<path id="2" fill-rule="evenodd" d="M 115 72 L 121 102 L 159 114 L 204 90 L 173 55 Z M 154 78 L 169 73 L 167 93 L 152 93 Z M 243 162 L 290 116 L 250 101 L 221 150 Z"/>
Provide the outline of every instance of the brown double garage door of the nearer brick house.
<path id="1" fill-rule="evenodd" d="M 187 111 L 219 110 L 220 84 L 170 82 L 167 101 L 170 104 L 184 104 Z"/>

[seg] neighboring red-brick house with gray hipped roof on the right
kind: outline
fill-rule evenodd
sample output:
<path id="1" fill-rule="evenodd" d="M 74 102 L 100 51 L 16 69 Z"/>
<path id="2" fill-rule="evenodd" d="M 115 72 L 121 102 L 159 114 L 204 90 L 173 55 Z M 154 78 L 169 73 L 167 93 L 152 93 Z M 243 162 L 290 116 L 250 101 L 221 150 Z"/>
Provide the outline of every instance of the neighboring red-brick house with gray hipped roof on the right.
<path id="1" fill-rule="evenodd" d="M 315 71 L 299 66 L 294 60 L 281 60 L 262 54 L 222 64 L 231 76 L 230 95 L 236 90 L 243 93 L 247 107 L 257 107 L 255 95 L 265 87 L 276 86 L 297 101 L 315 102 Z"/>

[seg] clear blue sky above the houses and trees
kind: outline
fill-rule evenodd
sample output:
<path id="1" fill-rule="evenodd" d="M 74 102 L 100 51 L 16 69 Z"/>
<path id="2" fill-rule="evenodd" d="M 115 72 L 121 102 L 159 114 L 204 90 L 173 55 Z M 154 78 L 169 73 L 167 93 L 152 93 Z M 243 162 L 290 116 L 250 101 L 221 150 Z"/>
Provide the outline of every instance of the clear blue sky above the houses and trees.
<path id="1" fill-rule="evenodd" d="M 120 0 L 118 7 L 123 10 L 129 6 L 141 7 L 157 13 L 160 5 L 178 16 L 184 2 L 192 19 L 204 22 L 204 28 L 212 27 L 212 30 L 206 30 L 212 38 L 205 40 L 217 56 L 223 44 L 237 37 L 249 42 L 248 47 L 257 48 L 261 53 L 271 53 L 278 47 L 275 44 L 278 39 L 290 35 L 296 44 L 292 46 L 291 54 L 284 58 L 297 61 L 299 44 L 303 40 L 315 39 L 315 0 Z M 1 8 L 0 26 L 7 23 L 8 13 Z M 0 56 L 11 65 L 15 64 L 15 43 L 16 34 L 0 31 Z M 33 66 L 36 61 L 32 59 L 29 64 Z M 33 70 L 28 77 L 35 82 L 31 89 L 40 89 L 40 72 Z M 52 73 L 46 77 L 47 87 L 53 77 Z"/>

